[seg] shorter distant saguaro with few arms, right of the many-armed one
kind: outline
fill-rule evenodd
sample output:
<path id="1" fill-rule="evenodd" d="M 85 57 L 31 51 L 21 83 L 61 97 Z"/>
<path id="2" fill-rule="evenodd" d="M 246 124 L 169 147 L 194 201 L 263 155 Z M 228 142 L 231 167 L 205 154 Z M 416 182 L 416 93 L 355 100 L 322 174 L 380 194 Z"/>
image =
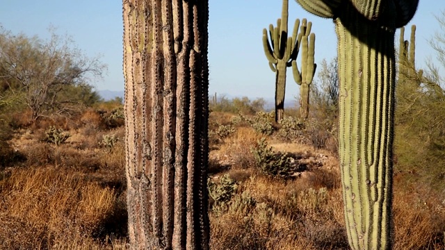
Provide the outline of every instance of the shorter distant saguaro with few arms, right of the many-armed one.
<path id="1" fill-rule="evenodd" d="M 303 26 L 305 27 L 306 19 L 303 19 Z M 309 28 L 304 33 L 301 40 L 301 72 L 298 70 L 296 60 L 292 61 L 292 72 L 293 79 L 298 85 L 300 85 L 300 114 L 303 119 L 307 119 L 309 116 L 309 88 L 311 86 L 312 80 L 314 79 L 314 74 L 317 65 L 314 63 L 315 55 L 315 34 L 310 31 Z M 309 38 L 308 38 L 309 35 Z M 308 42 L 309 39 L 309 42 Z"/>

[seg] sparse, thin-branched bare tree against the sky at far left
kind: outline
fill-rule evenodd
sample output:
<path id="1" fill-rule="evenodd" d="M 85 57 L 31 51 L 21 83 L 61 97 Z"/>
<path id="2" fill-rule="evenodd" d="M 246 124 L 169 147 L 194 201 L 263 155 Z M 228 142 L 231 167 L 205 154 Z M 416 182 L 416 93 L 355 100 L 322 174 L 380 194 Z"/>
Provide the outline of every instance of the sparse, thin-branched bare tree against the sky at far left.
<path id="1" fill-rule="evenodd" d="M 105 65 L 86 58 L 68 38 L 54 31 L 49 40 L 0 31 L 0 81 L 10 92 L 21 92 L 32 119 L 47 113 L 71 113 L 79 99 L 60 93 L 67 88 L 90 88 L 92 77 L 101 77 Z"/>

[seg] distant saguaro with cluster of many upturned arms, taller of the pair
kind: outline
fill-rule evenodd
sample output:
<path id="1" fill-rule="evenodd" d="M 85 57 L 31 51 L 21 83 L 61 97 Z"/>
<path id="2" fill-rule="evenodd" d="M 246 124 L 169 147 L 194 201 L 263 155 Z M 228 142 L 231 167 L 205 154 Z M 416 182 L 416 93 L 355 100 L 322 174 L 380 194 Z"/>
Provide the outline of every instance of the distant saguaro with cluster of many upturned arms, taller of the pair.
<path id="1" fill-rule="evenodd" d="M 266 28 L 263 30 L 263 47 L 270 69 L 275 72 L 275 122 L 280 122 L 284 115 L 284 93 L 286 88 L 286 69 L 291 67 L 291 61 L 296 60 L 300 41 L 304 33 L 298 33 L 300 19 L 296 19 L 293 26 L 292 36 L 288 38 L 287 22 L 289 14 L 289 0 L 283 0 L 282 15 L 277 19 L 277 26 L 269 25 L 269 36 Z M 310 33 L 312 23 L 309 27 L 305 23 L 301 29 Z M 298 34 L 297 34 L 298 33 Z"/>

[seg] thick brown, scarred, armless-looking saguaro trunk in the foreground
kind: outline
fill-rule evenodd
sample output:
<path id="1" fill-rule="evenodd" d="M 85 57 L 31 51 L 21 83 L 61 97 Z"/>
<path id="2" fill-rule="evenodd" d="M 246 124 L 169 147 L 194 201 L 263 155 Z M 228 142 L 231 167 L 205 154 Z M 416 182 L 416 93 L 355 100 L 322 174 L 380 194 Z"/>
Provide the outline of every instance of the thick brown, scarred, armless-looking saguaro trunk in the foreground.
<path id="1" fill-rule="evenodd" d="M 124 0 L 131 249 L 209 249 L 208 1 Z"/>

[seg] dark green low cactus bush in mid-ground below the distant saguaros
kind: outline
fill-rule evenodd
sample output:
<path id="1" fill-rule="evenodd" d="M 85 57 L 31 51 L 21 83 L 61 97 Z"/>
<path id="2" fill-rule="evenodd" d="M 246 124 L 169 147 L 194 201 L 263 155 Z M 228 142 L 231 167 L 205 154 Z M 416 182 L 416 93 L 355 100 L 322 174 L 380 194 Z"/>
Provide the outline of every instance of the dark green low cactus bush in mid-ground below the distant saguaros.
<path id="1" fill-rule="evenodd" d="M 286 178 L 296 172 L 291 166 L 292 158 L 287 153 L 275 153 L 272 147 L 268 146 L 266 138 L 261 138 L 257 146 L 250 151 L 261 174 Z"/>

